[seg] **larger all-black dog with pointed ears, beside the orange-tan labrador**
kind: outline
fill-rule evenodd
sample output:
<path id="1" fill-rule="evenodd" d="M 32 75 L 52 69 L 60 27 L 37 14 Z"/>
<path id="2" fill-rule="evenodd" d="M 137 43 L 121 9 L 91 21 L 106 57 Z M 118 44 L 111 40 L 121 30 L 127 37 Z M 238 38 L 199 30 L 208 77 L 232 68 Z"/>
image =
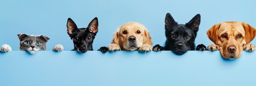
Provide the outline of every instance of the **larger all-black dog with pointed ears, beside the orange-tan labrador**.
<path id="1" fill-rule="evenodd" d="M 195 50 L 195 37 L 200 24 L 200 14 L 195 15 L 188 23 L 178 24 L 170 13 L 165 16 L 165 46 L 159 44 L 153 47 L 153 51 L 172 51 L 175 54 L 184 54 L 189 50 Z M 200 47 L 201 48 L 201 47 Z"/>

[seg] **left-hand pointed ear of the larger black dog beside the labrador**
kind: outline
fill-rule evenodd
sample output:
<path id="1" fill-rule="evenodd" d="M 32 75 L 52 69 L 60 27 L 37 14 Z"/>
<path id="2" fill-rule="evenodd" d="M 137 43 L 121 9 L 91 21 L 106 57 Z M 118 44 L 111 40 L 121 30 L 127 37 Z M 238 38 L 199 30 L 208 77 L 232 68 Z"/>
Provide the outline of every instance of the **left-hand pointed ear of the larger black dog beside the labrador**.
<path id="1" fill-rule="evenodd" d="M 170 13 L 167 13 L 165 16 L 165 29 L 172 28 L 177 25 L 177 22 L 172 18 Z"/>

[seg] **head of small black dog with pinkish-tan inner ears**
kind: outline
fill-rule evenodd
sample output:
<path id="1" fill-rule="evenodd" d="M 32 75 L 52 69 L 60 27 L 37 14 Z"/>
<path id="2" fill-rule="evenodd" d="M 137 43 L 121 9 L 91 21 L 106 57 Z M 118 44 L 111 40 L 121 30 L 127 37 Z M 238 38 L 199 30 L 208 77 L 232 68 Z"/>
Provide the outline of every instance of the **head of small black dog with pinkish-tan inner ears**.
<path id="1" fill-rule="evenodd" d="M 77 28 L 75 22 L 67 19 L 67 34 L 71 37 L 74 43 L 74 49 L 71 51 L 93 51 L 93 40 L 98 32 L 98 18 L 94 18 L 87 28 Z"/>

